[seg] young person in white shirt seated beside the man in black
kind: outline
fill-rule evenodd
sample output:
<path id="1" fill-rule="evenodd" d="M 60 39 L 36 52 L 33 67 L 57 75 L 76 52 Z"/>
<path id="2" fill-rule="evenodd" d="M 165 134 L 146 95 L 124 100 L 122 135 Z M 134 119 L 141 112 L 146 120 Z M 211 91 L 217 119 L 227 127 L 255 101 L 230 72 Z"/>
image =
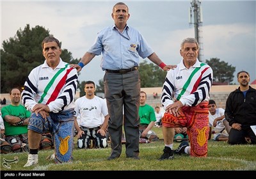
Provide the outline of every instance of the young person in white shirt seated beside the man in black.
<path id="1" fill-rule="evenodd" d="M 230 126 L 228 125 L 227 120 L 225 120 L 225 110 L 222 108 L 217 108 L 216 102 L 214 100 L 209 100 L 209 127 L 210 132 L 209 136 L 213 134 L 212 139 L 214 141 L 227 141 L 228 132 Z M 227 128 L 225 128 L 224 123 L 226 123 Z M 211 137 L 209 137 L 211 139 Z"/>

